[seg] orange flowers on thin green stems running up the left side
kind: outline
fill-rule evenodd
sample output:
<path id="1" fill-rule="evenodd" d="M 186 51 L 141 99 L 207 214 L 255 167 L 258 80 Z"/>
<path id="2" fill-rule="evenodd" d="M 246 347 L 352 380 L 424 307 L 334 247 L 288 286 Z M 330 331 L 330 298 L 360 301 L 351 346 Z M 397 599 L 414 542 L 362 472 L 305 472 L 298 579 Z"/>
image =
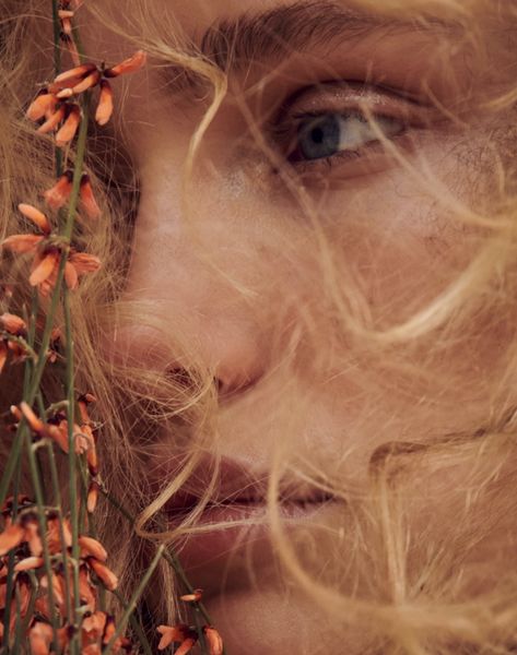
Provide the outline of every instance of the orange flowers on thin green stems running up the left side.
<path id="1" fill-rule="evenodd" d="M 114 111 L 111 80 L 139 70 L 146 57 L 143 51 L 137 51 L 111 67 L 86 62 L 79 52 L 73 25 L 81 4 L 82 0 L 52 0 L 55 45 L 56 48 L 60 43 L 64 45 L 73 68 L 56 71 L 54 80 L 39 90 L 25 112 L 28 120 L 38 124 L 38 133 L 54 134 L 57 179 L 42 193 L 46 205 L 43 210 L 37 206 L 38 202 L 17 205 L 19 218 L 27 224 L 27 230 L 11 235 L 0 243 L 8 257 L 32 258 L 27 282 L 34 289 L 31 311 L 24 306 L 21 312 L 24 318 L 10 309 L 14 287 L 5 287 L 0 296 L 3 311 L 0 314 L 0 374 L 12 364 L 25 362 L 22 398 L 3 414 L 11 417 L 8 429 L 13 433 L 13 445 L 0 478 L 2 653 L 132 652 L 124 628 L 164 557 L 162 546 L 127 605 L 117 593 L 125 611 L 117 624 L 106 611 L 109 596 L 104 592 L 116 592 L 118 580 L 107 565 L 108 553 L 95 538 L 97 497 L 101 490 L 107 493 L 99 478 L 98 426 L 89 414 L 96 398 L 91 393 L 77 397 L 68 291 L 77 289 L 83 276 L 102 266 L 96 255 L 83 252 L 74 240 L 78 219 L 86 228 L 102 215 L 83 165 L 91 93 L 98 90 L 94 118 L 97 124 L 104 126 Z M 74 139 L 77 154 L 71 157 L 69 146 Z M 60 306 L 62 324 L 56 326 Z M 64 358 L 67 364 L 62 369 L 55 369 L 56 376 L 62 374 L 59 382 L 64 400 L 58 396 L 57 402 L 48 405 L 50 401 L 42 380 L 47 364 L 58 357 Z M 38 460 L 42 452 L 50 471 L 45 471 L 45 457 Z M 68 457 L 70 479 L 66 505 L 61 501 L 56 454 Z M 22 481 L 25 484 L 25 468 L 31 474 L 34 490 L 31 495 L 35 500 L 20 495 Z M 9 493 L 12 496 L 4 502 Z M 179 572 L 179 563 L 171 565 Z M 181 579 L 185 582 L 183 571 Z M 200 604 L 201 595 L 201 590 L 193 590 L 181 599 L 195 604 L 196 617 L 202 616 L 203 621 L 197 620 L 197 628 L 184 623 L 160 626 L 158 650 L 177 644 L 175 652 L 181 655 L 199 644 L 205 655 L 224 653 L 221 635 Z M 134 630 L 133 635 L 145 643 L 142 630 L 140 634 Z M 146 644 L 145 651 L 149 650 Z"/>

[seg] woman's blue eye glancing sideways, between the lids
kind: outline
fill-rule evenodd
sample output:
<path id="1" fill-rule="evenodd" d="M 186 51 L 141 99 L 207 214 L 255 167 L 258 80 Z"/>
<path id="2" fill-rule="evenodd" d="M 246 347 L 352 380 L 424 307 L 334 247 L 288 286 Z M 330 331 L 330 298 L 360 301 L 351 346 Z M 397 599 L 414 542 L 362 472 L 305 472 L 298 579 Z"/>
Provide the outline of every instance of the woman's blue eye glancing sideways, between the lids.
<path id="1" fill-rule="evenodd" d="M 390 117 L 376 117 L 374 126 L 362 115 L 324 114 L 302 118 L 297 126 L 295 158 L 322 159 L 340 152 L 355 152 L 378 141 L 378 129 L 389 138 L 400 134 L 404 124 Z"/>

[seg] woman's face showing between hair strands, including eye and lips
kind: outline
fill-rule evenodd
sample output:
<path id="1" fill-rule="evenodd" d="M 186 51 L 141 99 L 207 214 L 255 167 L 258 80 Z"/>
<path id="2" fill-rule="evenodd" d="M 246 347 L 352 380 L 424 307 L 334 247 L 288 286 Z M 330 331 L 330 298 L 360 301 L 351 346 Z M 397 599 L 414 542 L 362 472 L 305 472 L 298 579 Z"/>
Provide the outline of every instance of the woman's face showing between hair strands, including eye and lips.
<path id="1" fill-rule="evenodd" d="M 262 516 L 261 484 L 280 449 L 280 487 L 305 480 L 283 493 L 281 515 L 290 534 L 301 529 L 298 552 L 320 562 L 325 580 L 336 546 L 342 562 L 361 549 L 351 516 L 385 444 L 470 434 L 510 402 L 502 389 L 486 391 L 509 329 L 483 309 L 448 331 L 436 312 L 419 313 L 449 293 L 489 234 L 458 216 L 481 216 L 497 201 L 496 148 L 509 121 L 482 107 L 500 93 L 505 81 L 494 71 L 504 67 L 493 45 L 490 60 L 478 58 L 460 25 L 440 16 L 404 22 L 284 0 L 152 0 L 148 11 L 167 28 L 174 17 L 176 34 L 227 71 L 228 91 L 186 187 L 210 84 L 155 60 L 127 82 L 115 129 L 128 140 L 141 196 L 125 299 L 149 303 L 153 320 L 185 335 L 216 381 L 203 466 L 222 457 L 214 498 L 225 508 L 212 504 L 201 523 Z M 116 43 L 114 57 L 119 46 L 127 52 Z M 396 329 L 414 315 L 421 321 L 408 330 L 419 338 L 402 347 Z M 436 317 L 423 338 L 420 325 Z M 361 330 L 395 330 L 398 342 L 362 346 Z M 171 371 L 185 357 L 175 360 L 163 333 L 138 321 L 119 331 L 116 353 Z M 172 475 L 176 449 L 174 433 L 157 434 L 150 469 Z M 454 541 L 470 473 L 450 466 L 413 480 L 416 569 L 424 529 L 431 543 Z M 201 495 L 207 479 L 197 475 Z M 252 489 L 246 499 L 243 480 Z M 332 495 L 336 485 L 345 498 Z M 331 626 L 284 582 L 267 531 L 193 537 L 184 558 L 228 652 L 330 652 Z M 479 558 L 469 553 L 465 565 Z M 491 561 L 487 580 L 504 565 Z M 343 591 L 392 598 L 389 564 L 371 567 L 374 576 L 385 571 L 384 592 L 359 569 L 342 574 Z M 331 652 L 361 653 L 366 643 L 351 629 L 344 650 Z"/>

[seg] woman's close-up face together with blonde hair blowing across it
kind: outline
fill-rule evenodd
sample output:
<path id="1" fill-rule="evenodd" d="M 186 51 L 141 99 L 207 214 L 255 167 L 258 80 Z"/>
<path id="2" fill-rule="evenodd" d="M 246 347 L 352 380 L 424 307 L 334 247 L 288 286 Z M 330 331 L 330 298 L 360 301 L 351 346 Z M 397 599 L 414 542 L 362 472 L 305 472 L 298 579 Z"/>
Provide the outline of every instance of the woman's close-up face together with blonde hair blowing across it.
<path id="1" fill-rule="evenodd" d="M 516 25 L 461 4 L 79 3 L 103 82 L 146 52 L 75 348 L 148 623 L 188 576 L 230 655 L 515 652 Z"/>

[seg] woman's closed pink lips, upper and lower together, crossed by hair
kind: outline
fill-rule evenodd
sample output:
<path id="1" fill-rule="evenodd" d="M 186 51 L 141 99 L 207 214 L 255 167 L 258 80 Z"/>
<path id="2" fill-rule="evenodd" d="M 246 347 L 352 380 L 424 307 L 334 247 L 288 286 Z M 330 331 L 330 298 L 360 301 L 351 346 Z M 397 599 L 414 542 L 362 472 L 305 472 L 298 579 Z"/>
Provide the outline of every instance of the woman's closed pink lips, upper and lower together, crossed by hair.
<path id="1" fill-rule="evenodd" d="M 213 478 L 214 466 L 215 461 L 207 457 L 163 508 L 167 527 L 183 533 L 178 552 L 188 570 L 230 562 L 234 567 L 251 551 L 269 551 L 267 475 L 223 457 L 219 462 L 214 491 L 203 507 L 203 491 Z M 284 480 L 278 512 L 284 527 L 291 531 L 316 519 L 334 502 L 331 495 L 316 487 Z"/>

